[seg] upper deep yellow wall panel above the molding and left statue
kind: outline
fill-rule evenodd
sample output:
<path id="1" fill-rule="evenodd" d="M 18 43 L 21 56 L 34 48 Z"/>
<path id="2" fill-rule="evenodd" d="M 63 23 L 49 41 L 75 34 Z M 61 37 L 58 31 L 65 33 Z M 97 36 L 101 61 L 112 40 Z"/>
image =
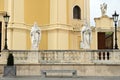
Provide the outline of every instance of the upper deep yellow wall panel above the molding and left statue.
<path id="1" fill-rule="evenodd" d="M 50 0 L 24 0 L 25 23 L 49 24 Z"/>

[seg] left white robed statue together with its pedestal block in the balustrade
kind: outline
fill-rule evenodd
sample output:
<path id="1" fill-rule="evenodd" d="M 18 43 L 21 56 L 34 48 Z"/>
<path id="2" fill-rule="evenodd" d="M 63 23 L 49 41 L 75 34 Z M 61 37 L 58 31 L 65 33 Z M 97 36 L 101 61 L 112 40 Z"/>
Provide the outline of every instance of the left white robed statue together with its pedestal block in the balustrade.
<path id="1" fill-rule="evenodd" d="M 38 27 L 37 23 L 35 22 L 31 32 L 30 32 L 30 37 L 31 37 L 31 48 L 34 51 L 31 51 L 28 53 L 28 62 L 29 63 L 38 63 L 39 62 L 39 55 L 38 55 L 38 49 L 39 49 L 39 43 L 41 40 L 41 30 Z"/>

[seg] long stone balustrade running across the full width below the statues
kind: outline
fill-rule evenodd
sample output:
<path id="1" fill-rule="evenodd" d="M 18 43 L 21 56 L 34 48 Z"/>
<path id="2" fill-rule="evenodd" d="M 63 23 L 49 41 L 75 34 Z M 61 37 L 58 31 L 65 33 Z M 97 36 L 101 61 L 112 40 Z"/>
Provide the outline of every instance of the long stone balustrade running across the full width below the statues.
<path id="1" fill-rule="evenodd" d="M 34 64 L 28 55 L 36 53 L 38 64 L 120 64 L 120 50 L 9 50 L 1 53 L 2 62 L 8 53 L 14 55 L 15 64 Z"/>

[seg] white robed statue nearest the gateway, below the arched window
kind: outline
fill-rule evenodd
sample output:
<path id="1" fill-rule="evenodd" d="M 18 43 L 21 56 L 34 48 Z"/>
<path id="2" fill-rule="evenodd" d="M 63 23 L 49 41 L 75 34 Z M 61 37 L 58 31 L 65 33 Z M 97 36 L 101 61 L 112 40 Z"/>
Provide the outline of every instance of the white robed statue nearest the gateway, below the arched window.
<path id="1" fill-rule="evenodd" d="M 81 48 L 90 49 L 92 32 L 91 28 L 86 24 L 83 25 L 81 30 Z"/>

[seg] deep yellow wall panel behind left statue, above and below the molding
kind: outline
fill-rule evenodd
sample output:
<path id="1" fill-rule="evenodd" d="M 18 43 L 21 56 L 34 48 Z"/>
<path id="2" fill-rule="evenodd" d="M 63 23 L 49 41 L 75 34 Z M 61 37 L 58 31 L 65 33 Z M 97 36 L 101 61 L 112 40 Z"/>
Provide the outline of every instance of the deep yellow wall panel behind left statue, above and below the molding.
<path id="1" fill-rule="evenodd" d="M 50 24 L 50 0 L 24 0 L 24 7 L 25 24 L 34 24 L 34 22 L 37 22 L 39 26 Z M 48 49 L 47 37 L 47 31 L 42 31 L 40 50 Z M 27 34 L 27 40 L 27 48 L 31 49 L 29 33 Z"/>

